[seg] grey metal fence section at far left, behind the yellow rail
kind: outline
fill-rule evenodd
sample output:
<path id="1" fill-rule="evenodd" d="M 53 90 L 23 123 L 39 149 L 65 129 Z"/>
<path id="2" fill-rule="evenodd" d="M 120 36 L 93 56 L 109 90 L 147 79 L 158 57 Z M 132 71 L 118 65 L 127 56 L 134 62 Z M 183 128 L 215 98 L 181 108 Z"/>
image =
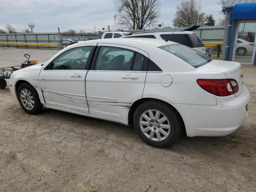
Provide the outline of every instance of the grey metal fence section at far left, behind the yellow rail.
<path id="1" fill-rule="evenodd" d="M 17 42 L 17 43 L 55 43 L 60 47 L 62 42 L 62 34 L 58 33 L 15 33 L 15 34 L 0 34 L 0 42 Z M 9 45 L 5 45 L 9 46 Z M 12 46 L 12 45 L 10 45 Z M 18 47 L 24 47 L 19 45 Z M 31 47 L 32 48 L 32 47 Z M 33 47 L 35 48 L 35 47 Z M 38 48 L 38 47 L 36 47 Z M 39 47 L 41 48 L 41 46 Z M 46 47 L 50 49 L 50 46 Z M 53 49 L 56 49 L 54 47 Z"/>

